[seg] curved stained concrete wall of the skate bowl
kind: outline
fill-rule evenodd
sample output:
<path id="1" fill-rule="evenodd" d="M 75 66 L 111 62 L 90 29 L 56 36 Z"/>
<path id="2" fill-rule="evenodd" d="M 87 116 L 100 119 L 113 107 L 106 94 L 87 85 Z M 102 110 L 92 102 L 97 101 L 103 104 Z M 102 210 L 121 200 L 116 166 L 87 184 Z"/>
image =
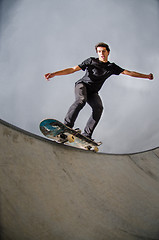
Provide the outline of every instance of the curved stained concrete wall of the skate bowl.
<path id="1" fill-rule="evenodd" d="M 159 149 L 93 153 L 0 122 L 3 240 L 159 239 Z"/>

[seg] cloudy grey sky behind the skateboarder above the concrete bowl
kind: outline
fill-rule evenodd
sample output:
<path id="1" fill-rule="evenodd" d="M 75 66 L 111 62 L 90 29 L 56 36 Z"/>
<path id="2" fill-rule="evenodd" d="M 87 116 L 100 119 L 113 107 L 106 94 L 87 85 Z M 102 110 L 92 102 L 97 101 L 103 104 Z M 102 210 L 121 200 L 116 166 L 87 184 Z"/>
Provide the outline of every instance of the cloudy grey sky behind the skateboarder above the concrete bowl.
<path id="1" fill-rule="evenodd" d="M 159 3 L 157 0 L 3 0 L 0 12 L 1 119 L 41 135 L 44 118 L 63 121 L 80 71 L 45 81 L 44 74 L 111 48 L 109 61 L 154 81 L 111 76 L 100 92 L 104 113 L 93 137 L 102 152 L 128 153 L 159 145 Z M 90 115 L 86 106 L 76 126 Z"/>

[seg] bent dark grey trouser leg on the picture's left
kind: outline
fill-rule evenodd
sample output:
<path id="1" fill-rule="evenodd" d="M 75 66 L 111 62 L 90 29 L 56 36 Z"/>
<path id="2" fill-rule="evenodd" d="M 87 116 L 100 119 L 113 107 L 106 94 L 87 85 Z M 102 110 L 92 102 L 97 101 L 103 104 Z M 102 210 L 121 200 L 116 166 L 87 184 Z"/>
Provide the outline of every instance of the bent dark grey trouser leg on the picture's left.
<path id="1" fill-rule="evenodd" d="M 75 102 L 69 108 L 64 124 L 73 127 L 80 110 L 85 106 L 87 101 L 87 89 L 83 83 L 78 83 L 75 86 Z"/>

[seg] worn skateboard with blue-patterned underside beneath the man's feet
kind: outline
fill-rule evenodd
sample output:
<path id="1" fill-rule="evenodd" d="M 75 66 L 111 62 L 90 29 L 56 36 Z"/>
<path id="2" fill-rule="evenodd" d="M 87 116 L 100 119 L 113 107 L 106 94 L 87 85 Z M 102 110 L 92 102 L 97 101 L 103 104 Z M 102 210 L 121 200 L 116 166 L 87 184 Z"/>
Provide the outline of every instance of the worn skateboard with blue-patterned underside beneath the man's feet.
<path id="1" fill-rule="evenodd" d="M 45 119 L 41 121 L 39 127 L 44 136 L 55 142 L 72 147 L 98 152 L 98 146 L 102 144 L 83 136 L 79 131 L 66 126 L 56 119 Z"/>

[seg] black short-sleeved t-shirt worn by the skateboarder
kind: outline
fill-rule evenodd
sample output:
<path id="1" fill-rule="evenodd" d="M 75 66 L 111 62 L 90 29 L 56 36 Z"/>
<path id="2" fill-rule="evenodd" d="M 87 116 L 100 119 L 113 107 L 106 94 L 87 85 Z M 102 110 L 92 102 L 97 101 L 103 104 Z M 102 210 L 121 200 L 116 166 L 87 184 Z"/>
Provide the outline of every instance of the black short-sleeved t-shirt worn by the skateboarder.
<path id="1" fill-rule="evenodd" d="M 98 92 L 105 80 L 112 74 L 119 75 L 124 71 L 115 63 L 102 62 L 98 58 L 90 57 L 78 65 L 86 74 L 76 82 L 84 83 L 90 92 Z"/>

